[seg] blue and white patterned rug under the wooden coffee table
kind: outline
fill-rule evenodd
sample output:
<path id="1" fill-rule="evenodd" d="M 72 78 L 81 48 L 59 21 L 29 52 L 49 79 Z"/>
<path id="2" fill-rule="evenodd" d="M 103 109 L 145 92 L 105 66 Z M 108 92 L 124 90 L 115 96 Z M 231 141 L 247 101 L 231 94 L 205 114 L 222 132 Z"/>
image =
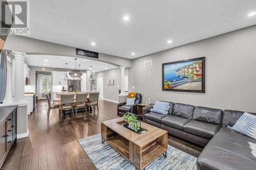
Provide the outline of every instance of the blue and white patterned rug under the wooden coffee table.
<path id="1" fill-rule="evenodd" d="M 84 152 L 89 156 L 90 162 L 99 170 L 134 170 L 135 166 L 127 161 L 119 152 L 111 147 L 107 142 L 101 143 L 100 134 L 89 136 L 78 140 Z M 179 170 L 196 170 L 197 158 L 185 152 L 182 152 L 168 145 L 167 158 L 163 155 L 159 156 L 151 164 L 146 166 L 149 169 L 179 169 Z M 80 162 L 88 162 L 88 160 L 80 160 Z"/>

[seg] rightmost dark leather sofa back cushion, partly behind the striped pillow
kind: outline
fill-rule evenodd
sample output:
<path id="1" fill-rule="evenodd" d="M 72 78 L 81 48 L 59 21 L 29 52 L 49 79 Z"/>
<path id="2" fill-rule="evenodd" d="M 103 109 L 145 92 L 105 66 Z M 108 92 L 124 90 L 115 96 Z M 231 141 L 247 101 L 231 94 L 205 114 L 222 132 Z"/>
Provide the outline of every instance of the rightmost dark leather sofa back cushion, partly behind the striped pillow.
<path id="1" fill-rule="evenodd" d="M 236 110 L 224 110 L 223 111 L 223 118 L 222 118 L 222 126 L 234 126 L 240 116 L 242 116 L 243 111 L 236 111 Z M 256 115 L 256 113 L 250 113 L 252 115 Z"/>

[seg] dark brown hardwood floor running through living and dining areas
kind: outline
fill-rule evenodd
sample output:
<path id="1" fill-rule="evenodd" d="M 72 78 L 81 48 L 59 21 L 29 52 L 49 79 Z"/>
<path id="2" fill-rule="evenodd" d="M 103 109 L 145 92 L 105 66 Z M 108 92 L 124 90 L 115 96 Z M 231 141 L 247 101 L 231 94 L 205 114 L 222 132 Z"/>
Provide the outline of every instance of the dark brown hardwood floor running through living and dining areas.
<path id="1" fill-rule="evenodd" d="M 77 162 L 88 158 L 77 140 L 100 133 L 101 122 L 118 117 L 117 104 L 101 100 L 99 116 L 88 119 L 78 114 L 74 119 L 67 116 L 63 122 L 58 109 L 51 110 L 48 120 L 47 107 L 46 101 L 38 101 L 35 112 L 28 115 L 29 137 L 17 140 L 2 169 L 96 169 L 91 162 Z M 169 136 L 168 143 L 193 156 L 202 151 L 175 137 Z"/>

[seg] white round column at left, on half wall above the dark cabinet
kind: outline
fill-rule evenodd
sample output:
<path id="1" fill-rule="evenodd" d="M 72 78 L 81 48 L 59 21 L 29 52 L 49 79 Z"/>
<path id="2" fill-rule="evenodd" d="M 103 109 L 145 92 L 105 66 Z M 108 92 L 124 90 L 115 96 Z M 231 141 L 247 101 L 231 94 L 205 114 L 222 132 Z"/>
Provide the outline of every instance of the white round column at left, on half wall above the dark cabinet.
<path id="1" fill-rule="evenodd" d="M 12 52 L 14 56 L 14 102 L 25 101 L 24 58 L 26 53 Z"/>

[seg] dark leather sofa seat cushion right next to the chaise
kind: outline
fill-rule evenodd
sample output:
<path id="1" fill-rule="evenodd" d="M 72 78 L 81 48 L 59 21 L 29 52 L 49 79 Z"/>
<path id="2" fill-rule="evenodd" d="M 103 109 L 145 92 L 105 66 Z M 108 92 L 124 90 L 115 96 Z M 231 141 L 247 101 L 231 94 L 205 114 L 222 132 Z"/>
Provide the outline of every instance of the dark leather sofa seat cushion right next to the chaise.
<path id="1" fill-rule="evenodd" d="M 218 125 L 191 120 L 183 126 L 183 131 L 205 139 L 211 139 L 220 128 Z"/>

